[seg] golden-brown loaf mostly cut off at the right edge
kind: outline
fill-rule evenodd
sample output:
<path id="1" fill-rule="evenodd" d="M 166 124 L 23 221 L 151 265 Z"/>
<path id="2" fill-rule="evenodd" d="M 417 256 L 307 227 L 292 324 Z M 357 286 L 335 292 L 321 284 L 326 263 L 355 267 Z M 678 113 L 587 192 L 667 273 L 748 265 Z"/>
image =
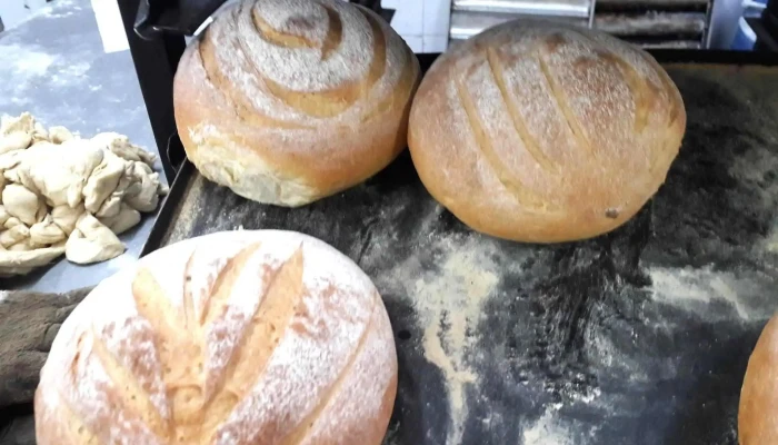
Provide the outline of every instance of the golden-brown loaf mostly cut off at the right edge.
<path id="1" fill-rule="evenodd" d="M 767 323 L 748 359 L 740 390 L 740 445 L 778 443 L 778 315 Z"/>

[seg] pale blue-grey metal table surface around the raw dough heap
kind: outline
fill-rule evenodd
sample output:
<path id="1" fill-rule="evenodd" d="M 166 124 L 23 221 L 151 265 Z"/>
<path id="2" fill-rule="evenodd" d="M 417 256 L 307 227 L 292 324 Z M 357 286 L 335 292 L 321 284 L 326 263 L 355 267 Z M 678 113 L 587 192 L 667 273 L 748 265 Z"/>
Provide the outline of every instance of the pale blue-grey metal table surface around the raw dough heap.
<path id="1" fill-rule="evenodd" d="M 31 112 L 46 127 L 82 137 L 127 135 L 158 152 L 129 51 L 104 53 L 89 0 L 57 0 L 29 21 L 0 33 L 0 115 Z M 157 162 L 160 177 L 161 164 Z M 93 286 L 133 264 L 156 214 L 120 239 L 127 251 L 110 261 L 77 266 L 60 259 L 23 278 L 0 278 L 0 289 L 61 293 Z"/>

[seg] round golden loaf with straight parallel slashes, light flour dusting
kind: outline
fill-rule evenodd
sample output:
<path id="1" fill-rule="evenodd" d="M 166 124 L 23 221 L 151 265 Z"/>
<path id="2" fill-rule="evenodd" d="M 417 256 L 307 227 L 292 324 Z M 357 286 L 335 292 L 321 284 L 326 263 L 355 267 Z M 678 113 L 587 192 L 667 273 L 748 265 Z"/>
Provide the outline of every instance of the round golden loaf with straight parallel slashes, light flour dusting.
<path id="1" fill-rule="evenodd" d="M 632 217 L 685 128 L 680 93 L 648 53 L 518 20 L 436 60 L 413 99 L 409 147 L 429 192 L 471 228 L 555 243 Z"/>

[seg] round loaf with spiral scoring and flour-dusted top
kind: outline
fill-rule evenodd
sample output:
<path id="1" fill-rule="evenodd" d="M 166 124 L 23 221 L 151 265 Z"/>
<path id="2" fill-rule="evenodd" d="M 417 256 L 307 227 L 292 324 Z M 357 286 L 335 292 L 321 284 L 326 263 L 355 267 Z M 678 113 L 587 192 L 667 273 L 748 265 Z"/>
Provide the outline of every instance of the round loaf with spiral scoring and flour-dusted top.
<path id="1" fill-rule="evenodd" d="M 295 207 L 397 157 L 418 79 L 416 56 L 372 11 L 342 0 L 245 0 L 183 53 L 176 123 L 205 177 Z"/>

